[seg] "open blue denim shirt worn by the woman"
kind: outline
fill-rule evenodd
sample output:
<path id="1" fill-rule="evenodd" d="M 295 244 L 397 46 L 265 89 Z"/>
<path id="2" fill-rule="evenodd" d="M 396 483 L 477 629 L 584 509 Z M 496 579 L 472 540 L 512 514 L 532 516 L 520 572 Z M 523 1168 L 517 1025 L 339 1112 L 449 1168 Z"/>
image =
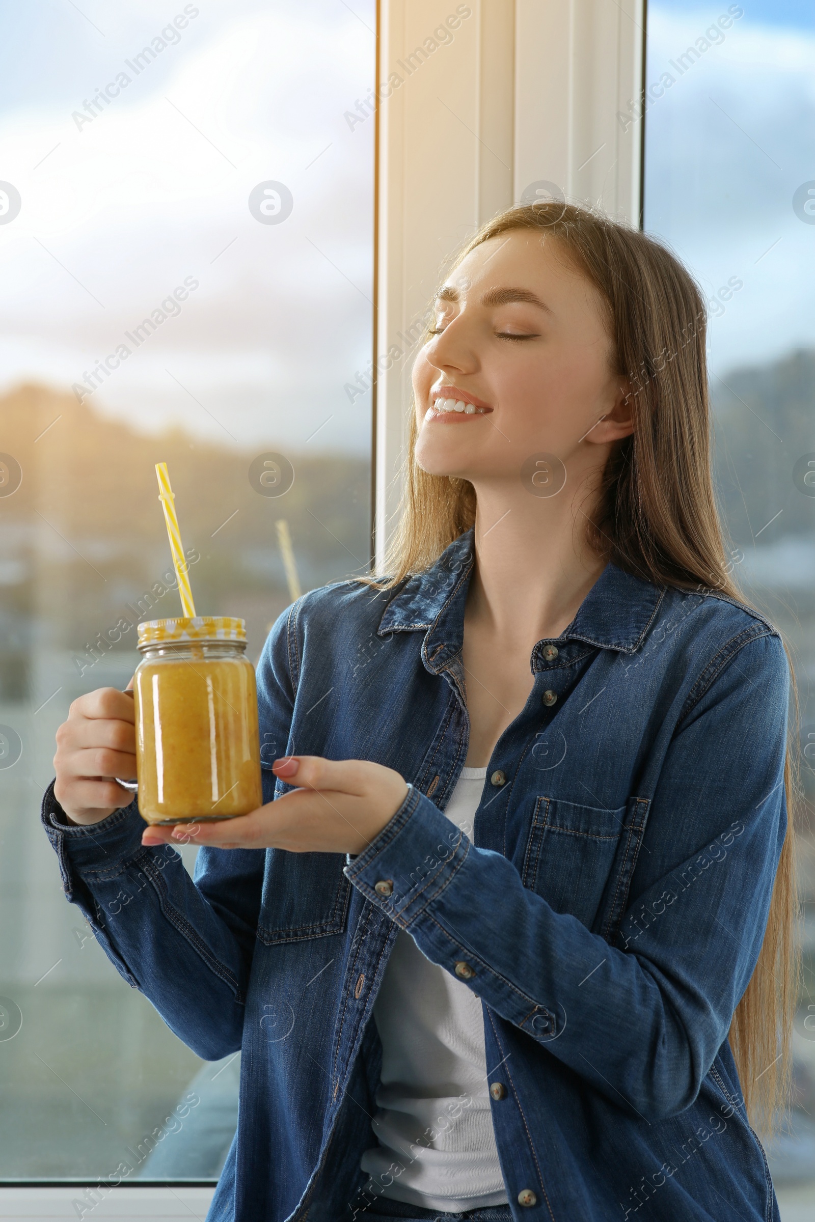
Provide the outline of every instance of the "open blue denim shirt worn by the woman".
<path id="1" fill-rule="evenodd" d="M 142 847 L 136 804 L 66 826 L 46 794 L 65 893 L 121 975 L 199 1056 L 243 1051 L 209 1220 L 364 1217 L 371 1009 L 400 929 L 481 1001 L 513 1218 L 778 1218 L 727 1042 L 786 832 L 778 634 L 607 565 L 533 649 L 467 837 L 444 809 L 467 756 L 472 566 L 468 532 L 396 590 L 313 590 L 265 644 L 266 800 L 290 788 L 283 754 L 409 782 L 360 854 L 202 848 L 191 879 Z"/>

